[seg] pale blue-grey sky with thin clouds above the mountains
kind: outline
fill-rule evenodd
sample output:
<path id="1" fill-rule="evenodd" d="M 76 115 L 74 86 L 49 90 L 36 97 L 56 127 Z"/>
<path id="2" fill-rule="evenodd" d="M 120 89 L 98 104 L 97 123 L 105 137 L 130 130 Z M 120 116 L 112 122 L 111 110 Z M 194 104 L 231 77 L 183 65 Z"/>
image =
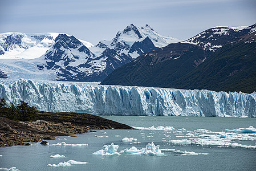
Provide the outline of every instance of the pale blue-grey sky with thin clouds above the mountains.
<path id="1" fill-rule="evenodd" d="M 133 23 L 186 40 L 215 26 L 256 23 L 255 0 L 0 0 L 0 33 L 65 32 L 97 44 Z"/>

